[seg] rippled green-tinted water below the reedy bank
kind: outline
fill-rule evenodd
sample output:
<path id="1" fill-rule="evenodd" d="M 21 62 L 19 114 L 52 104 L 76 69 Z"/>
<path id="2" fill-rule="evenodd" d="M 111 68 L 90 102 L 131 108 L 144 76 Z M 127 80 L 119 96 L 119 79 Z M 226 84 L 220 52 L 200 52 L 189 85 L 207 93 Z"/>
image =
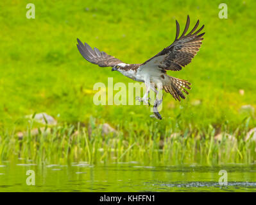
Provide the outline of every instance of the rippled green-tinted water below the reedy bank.
<path id="1" fill-rule="evenodd" d="M 28 186 L 27 170 L 35 171 Z M 219 170 L 228 184 L 219 185 Z M 256 165 L 147 167 L 136 162 L 92 166 L 35 163 L 0 164 L 0 192 L 255 192 Z"/>

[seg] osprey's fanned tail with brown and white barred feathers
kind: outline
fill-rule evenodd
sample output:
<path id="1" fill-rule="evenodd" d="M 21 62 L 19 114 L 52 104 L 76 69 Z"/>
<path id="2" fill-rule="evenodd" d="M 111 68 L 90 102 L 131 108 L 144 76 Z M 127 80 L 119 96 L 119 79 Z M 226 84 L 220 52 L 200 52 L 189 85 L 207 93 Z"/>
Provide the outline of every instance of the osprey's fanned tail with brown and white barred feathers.
<path id="1" fill-rule="evenodd" d="M 189 92 L 187 92 L 185 88 L 190 90 L 191 87 L 189 85 L 191 85 L 191 83 L 189 83 L 189 81 L 186 81 L 185 79 L 178 79 L 171 76 L 168 76 L 168 78 L 168 81 L 166 81 L 166 83 L 164 83 L 163 85 L 164 90 L 173 95 L 175 100 L 180 101 L 180 97 L 182 99 L 185 99 L 185 95 L 183 94 L 183 92 L 185 92 L 185 94 L 187 95 L 189 94 Z"/>

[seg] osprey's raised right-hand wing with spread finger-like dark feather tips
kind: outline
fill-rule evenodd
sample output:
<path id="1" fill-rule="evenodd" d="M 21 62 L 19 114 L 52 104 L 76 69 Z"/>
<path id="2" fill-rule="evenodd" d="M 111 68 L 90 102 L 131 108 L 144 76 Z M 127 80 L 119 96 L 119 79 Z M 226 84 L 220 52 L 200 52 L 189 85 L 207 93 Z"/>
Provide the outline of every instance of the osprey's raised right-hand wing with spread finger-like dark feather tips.
<path id="1" fill-rule="evenodd" d="M 180 35 L 180 24 L 176 20 L 176 37 L 173 44 L 166 47 L 164 50 L 160 51 L 160 53 L 156 54 L 146 62 L 142 63 L 144 68 L 146 67 L 157 67 L 158 69 L 164 70 L 181 70 L 182 67 L 189 64 L 198 53 L 199 48 L 201 46 L 201 41 L 203 40 L 203 35 L 205 33 L 200 33 L 203 29 L 204 25 L 196 31 L 198 28 L 199 20 L 196 22 L 196 26 L 187 34 L 187 29 L 189 29 L 189 15 L 187 16 L 187 23 L 185 29 Z M 196 31 L 196 32 L 194 32 Z M 165 72 L 165 71 L 164 71 Z"/>

